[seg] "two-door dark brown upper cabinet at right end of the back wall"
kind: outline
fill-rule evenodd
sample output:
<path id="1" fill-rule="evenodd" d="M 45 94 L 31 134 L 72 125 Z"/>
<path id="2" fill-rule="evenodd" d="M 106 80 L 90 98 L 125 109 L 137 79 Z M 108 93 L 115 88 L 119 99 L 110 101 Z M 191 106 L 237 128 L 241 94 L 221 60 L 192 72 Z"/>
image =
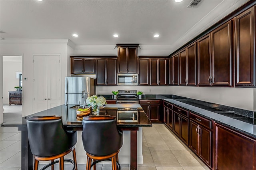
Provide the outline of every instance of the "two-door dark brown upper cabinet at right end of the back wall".
<path id="1" fill-rule="evenodd" d="M 167 85 L 168 59 L 150 59 L 150 85 Z"/>

